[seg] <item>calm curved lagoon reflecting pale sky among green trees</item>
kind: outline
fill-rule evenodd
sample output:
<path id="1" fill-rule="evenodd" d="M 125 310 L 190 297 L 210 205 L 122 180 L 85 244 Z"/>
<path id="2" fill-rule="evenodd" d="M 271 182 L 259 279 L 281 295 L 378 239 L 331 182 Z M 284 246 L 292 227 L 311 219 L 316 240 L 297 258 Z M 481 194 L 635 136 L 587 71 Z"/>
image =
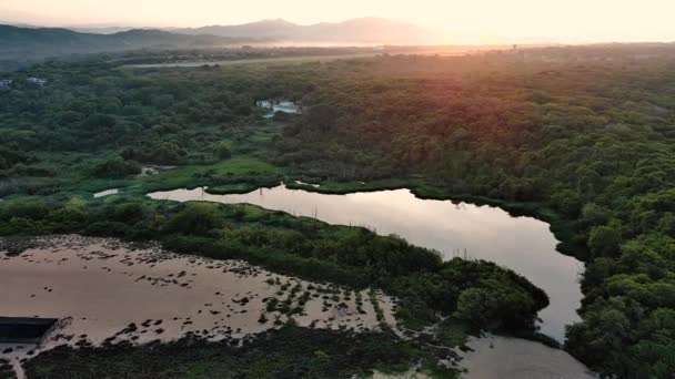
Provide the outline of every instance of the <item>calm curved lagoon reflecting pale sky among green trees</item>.
<path id="1" fill-rule="evenodd" d="M 583 264 L 556 252 L 548 224 L 532 217 L 450 201 L 415 197 L 409 190 L 324 195 L 281 185 L 245 195 L 211 195 L 197 190 L 149 194 L 155 199 L 249 203 L 330 224 L 365 226 L 379 234 L 396 234 L 412 244 L 436 249 L 447 259 L 466 256 L 495 262 L 544 289 L 551 306 L 540 313 L 542 332 L 564 340 L 565 325 L 578 320 Z"/>

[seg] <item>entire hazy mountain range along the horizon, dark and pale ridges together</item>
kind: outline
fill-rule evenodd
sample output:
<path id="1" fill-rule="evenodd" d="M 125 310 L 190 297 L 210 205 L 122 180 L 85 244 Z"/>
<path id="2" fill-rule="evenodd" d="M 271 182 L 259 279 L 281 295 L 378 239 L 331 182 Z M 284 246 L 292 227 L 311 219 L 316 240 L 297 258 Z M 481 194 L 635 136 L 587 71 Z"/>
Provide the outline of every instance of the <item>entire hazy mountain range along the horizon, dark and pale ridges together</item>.
<path id="1" fill-rule="evenodd" d="M 40 28 L 0 24 L 0 60 L 31 60 L 75 53 L 138 49 L 193 49 L 242 44 L 429 44 L 439 35 L 423 28 L 363 18 L 344 22 L 300 25 L 285 20 L 263 20 L 239 25 L 202 28 L 129 29 Z"/>

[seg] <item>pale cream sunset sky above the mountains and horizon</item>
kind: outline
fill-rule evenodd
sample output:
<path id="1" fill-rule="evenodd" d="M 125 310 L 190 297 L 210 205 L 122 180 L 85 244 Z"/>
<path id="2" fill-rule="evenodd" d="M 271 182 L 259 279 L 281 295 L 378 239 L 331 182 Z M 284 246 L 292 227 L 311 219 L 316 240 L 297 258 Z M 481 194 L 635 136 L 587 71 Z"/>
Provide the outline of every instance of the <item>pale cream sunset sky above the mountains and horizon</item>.
<path id="1" fill-rule="evenodd" d="M 675 0 L 0 0 L 0 20 L 40 25 L 200 27 L 282 18 L 404 21 L 456 42 L 675 41 Z"/>

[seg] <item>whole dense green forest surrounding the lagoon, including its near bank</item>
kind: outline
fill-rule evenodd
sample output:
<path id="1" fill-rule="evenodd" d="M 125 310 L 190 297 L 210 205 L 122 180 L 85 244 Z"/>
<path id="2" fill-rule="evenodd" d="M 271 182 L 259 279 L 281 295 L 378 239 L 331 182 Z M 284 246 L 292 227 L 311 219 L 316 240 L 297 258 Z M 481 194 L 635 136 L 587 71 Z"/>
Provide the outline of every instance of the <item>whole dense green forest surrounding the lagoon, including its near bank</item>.
<path id="1" fill-rule="evenodd" d="M 490 202 L 548 221 L 563 250 L 586 263 L 570 352 L 606 376 L 668 378 L 674 51 L 595 45 L 165 70 L 119 69 L 110 57 L 48 62 L 7 76 L 50 85 L 0 91 L 0 231 L 153 238 L 382 288 L 401 298 L 399 317 L 411 328 L 441 313 L 474 328 L 527 329 L 545 296 L 494 265 L 441 263 L 396 238 L 255 207 L 139 195 L 302 178 L 322 184 L 302 186 L 309 191 L 409 186 Z M 259 99 L 301 100 L 305 112 L 265 120 L 252 106 Z M 137 177 L 137 162 L 180 167 Z M 110 187 L 129 197 L 88 201 Z"/>

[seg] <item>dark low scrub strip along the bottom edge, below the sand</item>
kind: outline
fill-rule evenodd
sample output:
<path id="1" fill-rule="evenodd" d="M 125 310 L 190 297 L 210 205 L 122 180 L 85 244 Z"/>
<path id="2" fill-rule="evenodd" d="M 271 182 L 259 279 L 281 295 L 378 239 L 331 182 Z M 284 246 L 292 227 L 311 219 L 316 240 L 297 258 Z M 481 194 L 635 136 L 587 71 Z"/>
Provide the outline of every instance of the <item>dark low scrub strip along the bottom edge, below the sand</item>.
<path id="1" fill-rule="evenodd" d="M 199 340 L 140 348 L 57 348 L 29 361 L 27 375 L 56 379 L 105 378 L 111 372 L 130 379 L 363 378 L 373 370 L 405 371 L 424 359 L 421 351 L 419 345 L 391 332 L 347 334 L 284 327 L 242 348 Z M 68 370 L 63 370 L 63 362 L 68 362 Z M 454 377 L 449 370 L 443 375 Z"/>

